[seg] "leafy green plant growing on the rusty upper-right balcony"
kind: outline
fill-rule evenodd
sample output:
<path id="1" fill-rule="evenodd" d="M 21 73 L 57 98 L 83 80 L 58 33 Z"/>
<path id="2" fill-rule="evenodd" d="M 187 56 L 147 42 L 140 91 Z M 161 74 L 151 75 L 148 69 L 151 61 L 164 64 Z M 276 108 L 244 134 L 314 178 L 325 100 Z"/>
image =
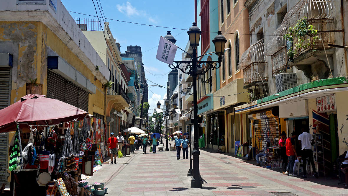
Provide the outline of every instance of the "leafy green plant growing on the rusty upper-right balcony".
<path id="1" fill-rule="evenodd" d="M 295 26 L 289 28 L 289 32 L 284 35 L 284 39 L 292 45 L 287 48 L 287 56 L 291 62 L 294 61 L 296 51 L 304 50 L 315 44 L 315 41 L 319 39 L 316 34 L 315 26 L 308 25 L 307 17 L 305 16 L 299 19 Z M 309 37 L 306 39 L 306 36 Z M 292 44 L 293 42 L 295 44 Z M 312 49 L 312 52 L 315 52 L 315 49 Z"/>

